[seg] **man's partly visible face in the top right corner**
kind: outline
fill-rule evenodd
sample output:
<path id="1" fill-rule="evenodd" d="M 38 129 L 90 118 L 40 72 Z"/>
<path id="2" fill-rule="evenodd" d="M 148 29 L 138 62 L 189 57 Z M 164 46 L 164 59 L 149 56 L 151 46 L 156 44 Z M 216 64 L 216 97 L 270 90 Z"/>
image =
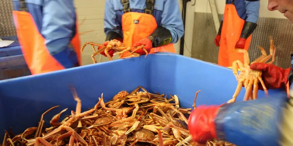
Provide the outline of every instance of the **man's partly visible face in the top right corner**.
<path id="1" fill-rule="evenodd" d="M 293 23 L 293 0 L 268 0 L 268 10 L 278 10 Z"/>

